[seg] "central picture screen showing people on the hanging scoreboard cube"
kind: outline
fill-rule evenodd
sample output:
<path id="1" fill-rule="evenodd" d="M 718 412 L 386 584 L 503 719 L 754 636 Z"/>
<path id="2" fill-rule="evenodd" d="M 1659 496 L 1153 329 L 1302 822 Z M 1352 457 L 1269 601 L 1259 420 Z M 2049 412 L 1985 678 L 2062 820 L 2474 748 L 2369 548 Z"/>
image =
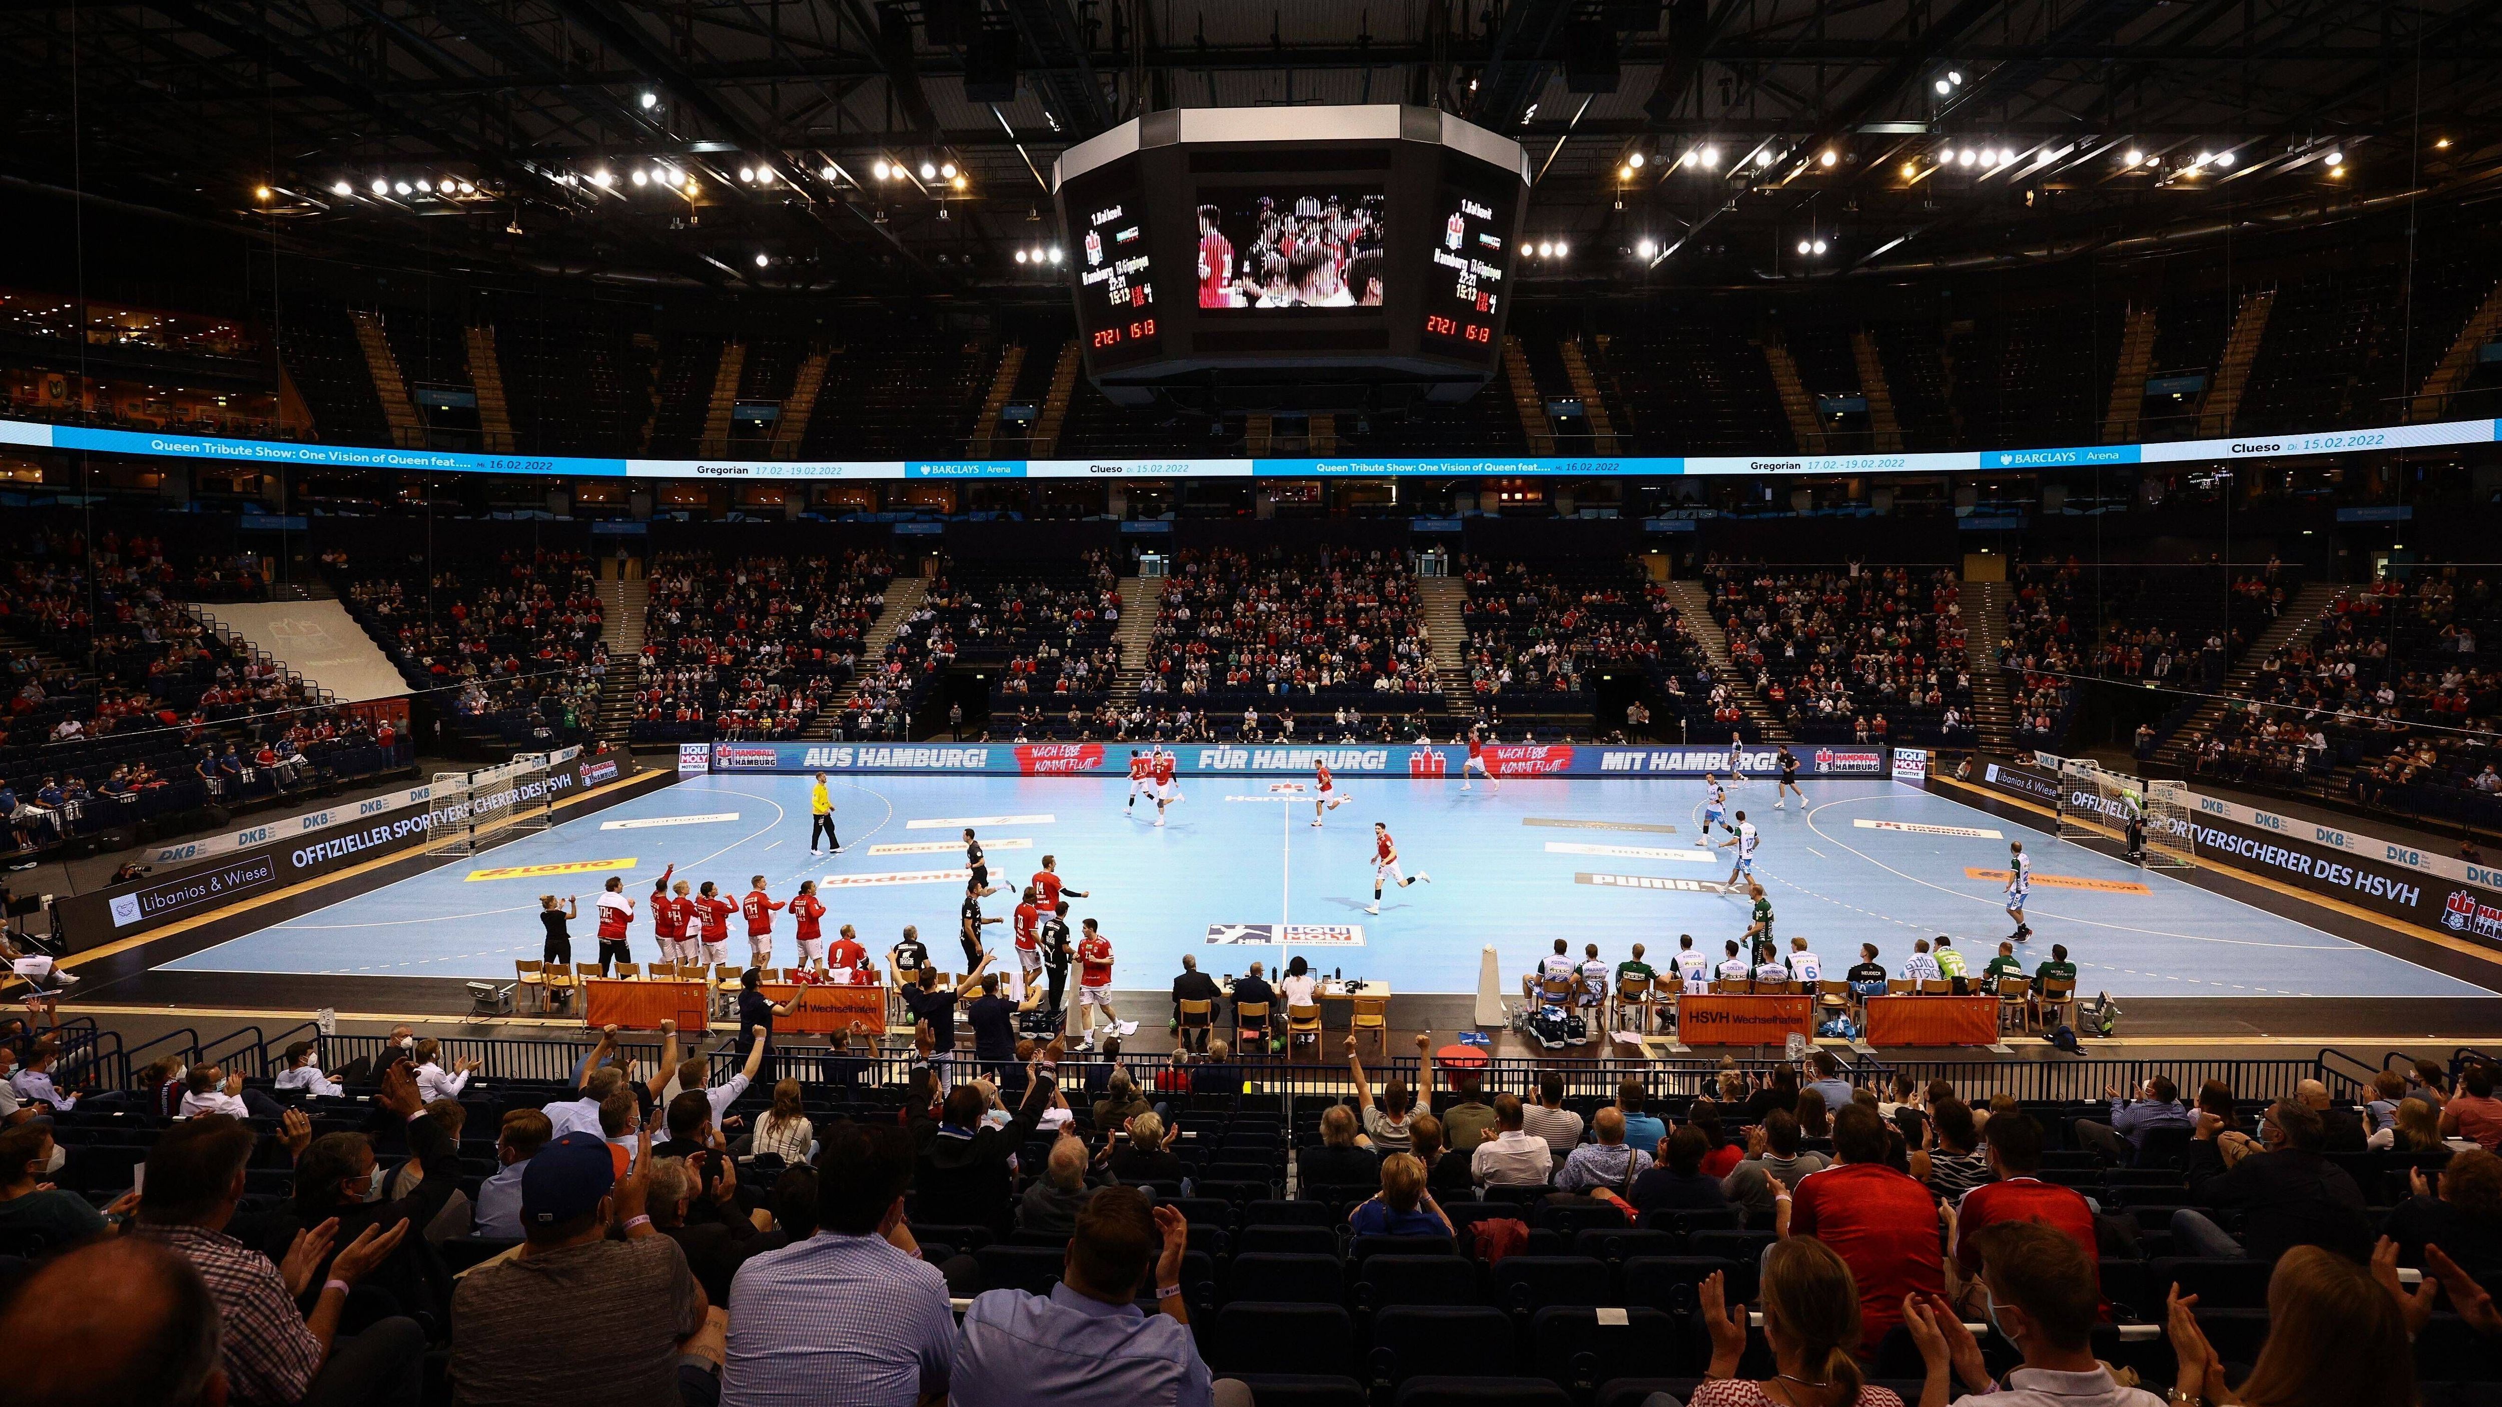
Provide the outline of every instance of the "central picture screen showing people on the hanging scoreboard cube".
<path id="1" fill-rule="evenodd" d="M 1201 190 L 1198 200 L 1198 307 L 1381 307 L 1379 185 Z"/>

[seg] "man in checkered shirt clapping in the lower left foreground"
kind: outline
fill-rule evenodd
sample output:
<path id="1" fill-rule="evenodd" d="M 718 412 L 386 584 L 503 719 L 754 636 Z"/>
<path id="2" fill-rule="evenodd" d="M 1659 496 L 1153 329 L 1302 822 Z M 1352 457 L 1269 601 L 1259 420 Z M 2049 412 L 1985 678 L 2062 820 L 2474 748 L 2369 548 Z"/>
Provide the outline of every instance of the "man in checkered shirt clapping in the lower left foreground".
<path id="1" fill-rule="evenodd" d="M 425 1117 L 415 1102 L 415 1082 L 403 1085 L 393 1102 L 385 1082 L 378 1100 L 390 1110 L 385 1117 Z M 298 1125 L 290 1142 L 300 1145 L 310 1132 L 310 1125 Z M 418 1357 L 425 1352 L 425 1332 L 415 1320 L 380 1320 L 355 1337 L 335 1337 L 348 1287 L 400 1245 L 408 1222 L 388 1232 L 365 1227 L 330 1257 L 338 1237 L 338 1222 L 330 1220 L 295 1232 L 285 1260 L 270 1265 L 270 1257 L 225 1235 L 235 1202 L 243 1200 L 243 1165 L 253 1157 L 253 1142 L 250 1125 L 228 1115 L 200 1115 L 168 1130 L 148 1150 L 148 1190 L 133 1227 L 188 1260 L 208 1282 L 218 1302 L 228 1400 L 238 1407 L 413 1405 Z M 313 1285 L 323 1257 L 330 1257 L 330 1272 L 308 1317 L 295 1300 Z"/>

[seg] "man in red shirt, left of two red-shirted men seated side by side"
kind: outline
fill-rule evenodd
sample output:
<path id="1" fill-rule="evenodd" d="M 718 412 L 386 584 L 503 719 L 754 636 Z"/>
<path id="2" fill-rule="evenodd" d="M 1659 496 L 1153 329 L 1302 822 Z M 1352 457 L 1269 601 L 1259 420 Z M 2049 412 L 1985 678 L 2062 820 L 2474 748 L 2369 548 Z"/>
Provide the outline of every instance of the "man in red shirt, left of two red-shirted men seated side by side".
<path id="1" fill-rule="evenodd" d="M 1927 1187 L 1884 1165 L 1887 1125 L 1866 1105 L 1834 1115 L 1834 1152 L 1839 1165 L 1799 1180 L 1786 1235 L 1816 1237 L 1851 1267 L 1859 1282 L 1859 1352 L 1866 1355 L 1902 1322 L 1904 1295 L 1942 1295 L 1947 1287 L 1937 1255 L 1937 1202 Z"/>

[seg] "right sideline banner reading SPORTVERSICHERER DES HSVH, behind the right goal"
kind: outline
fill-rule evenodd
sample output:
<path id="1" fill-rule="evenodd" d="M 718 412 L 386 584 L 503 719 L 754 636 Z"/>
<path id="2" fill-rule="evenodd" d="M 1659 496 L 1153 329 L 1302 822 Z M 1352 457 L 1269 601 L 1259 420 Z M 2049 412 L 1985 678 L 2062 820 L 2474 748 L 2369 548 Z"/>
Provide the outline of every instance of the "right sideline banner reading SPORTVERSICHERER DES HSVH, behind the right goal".
<path id="1" fill-rule="evenodd" d="M 2094 787 L 2079 787 L 2074 777 L 2012 762 L 1987 765 L 1982 782 L 2037 805 L 2057 805 L 2064 795 L 2069 810 L 2109 810 Z M 2502 947 L 2502 867 L 2199 792 L 2189 792 L 2189 805 L 2194 810 L 2177 827 L 2187 827 L 2202 860 Z"/>

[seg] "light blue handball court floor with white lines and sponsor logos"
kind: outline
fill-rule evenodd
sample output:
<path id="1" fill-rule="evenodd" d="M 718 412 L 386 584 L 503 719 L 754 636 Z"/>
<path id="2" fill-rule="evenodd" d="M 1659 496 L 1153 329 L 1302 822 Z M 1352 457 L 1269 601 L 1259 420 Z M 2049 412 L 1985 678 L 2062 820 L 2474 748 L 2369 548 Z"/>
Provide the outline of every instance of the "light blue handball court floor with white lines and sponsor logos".
<path id="1" fill-rule="evenodd" d="M 1314 830 L 1306 782 L 1186 777 L 1168 825 L 1148 802 L 1123 810 L 1126 780 L 1093 777 L 858 777 L 838 780 L 843 855 L 808 855 L 808 777 L 713 775 L 525 835 L 475 860 L 343 900 L 173 962 L 180 972 L 298 972 L 370 977 L 510 977 L 535 960 L 538 895 L 580 895 L 575 957 L 590 957 L 590 900 L 610 872 L 636 897 L 633 955 L 656 955 L 651 882 L 713 880 L 738 897 L 763 872 L 776 897 L 821 880 L 826 932 L 851 922 L 871 952 L 918 925 L 931 952 L 961 962 L 961 830 L 976 825 L 1006 917 L 1041 857 L 1058 855 L 1071 920 L 1093 917 L 1113 940 L 1118 987 L 1161 990 L 1198 952 L 1216 975 L 1279 962 L 1276 927 L 1321 970 L 1386 980 L 1396 992 L 1474 992 L 1479 952 L 1501 952 L 1506 985 L 1549 950 L 1596 942 L 1609 962 L 1634 942 L 1654 965 L 1691 932 L 1719 952 L 1746 927 L 1746 900 L 1719 892 L 1734 852 L 1694 845 L 1701 785 L 1686 780 L 1341 780 L 1349 802 Z M 1914 937 L 1949 932 L 1979 970 L 2014 925 L 2002 912 L 2007 842 L 2034 857 L 2027 960 L 2064 942 L 2079 987 L 2119 997 L 2474 997 L 2469 982 L 2197 890 L 2162 872 L 2057 842 L 1987 812 L 1897 782 L 1806 782 L 1809 805 L 1771 810 L 1771 782 L 1731 790 L 1761 830 L 1756 872 L 1784 940 L 1806 935 L 1829 975 L 1874 942 L 1892 970 Z M 1431 882 L 1371 902 L 1371 822 L 1389 822 L 1409 875 Z M 620 862 L 631 862 L 623 867 Z M 483 877 L 570 865 L 570 872 Z M 600 865 L 600 867 L 590 867 Z M 1011 887 L 1013 885 L 1013 887 Z M 1304 925 L 1314 925 L 1304 930 Z M 1211 930 L 1223 942 L 1211 942 Z M 731 922 L 731 952 L 746 955 Z M 986 930 L 1013 972 L 1008 927 Z M 796 960 L 788 915 L 776 917 L 781 962 Z"/>

